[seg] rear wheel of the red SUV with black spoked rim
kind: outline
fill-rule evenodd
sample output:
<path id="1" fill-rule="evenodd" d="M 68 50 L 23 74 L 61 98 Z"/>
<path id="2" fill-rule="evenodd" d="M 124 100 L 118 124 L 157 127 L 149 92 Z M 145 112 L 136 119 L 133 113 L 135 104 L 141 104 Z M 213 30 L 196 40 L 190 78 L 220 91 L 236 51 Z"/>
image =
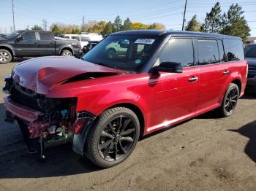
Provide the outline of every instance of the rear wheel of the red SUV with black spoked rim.
<path id="1" fill-rule="evenodd" d="M 222 106 L 219 108 L 221 117 L 229 117 L 236 109 L 240 92 L 238 85 L 230 83 L 222 100 Z"/>

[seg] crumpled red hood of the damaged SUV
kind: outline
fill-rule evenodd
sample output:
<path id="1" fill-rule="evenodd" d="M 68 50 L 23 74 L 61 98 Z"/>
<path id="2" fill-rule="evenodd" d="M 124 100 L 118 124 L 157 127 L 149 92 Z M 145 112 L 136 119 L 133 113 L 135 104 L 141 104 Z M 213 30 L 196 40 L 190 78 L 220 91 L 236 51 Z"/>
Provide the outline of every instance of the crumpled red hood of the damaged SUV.
<path id="1" fill-rule="evenodd" d="M 86 73 L 108 75 L 123 71 L 73 57 L 41 57 L 18 63 L 12 71 L 12 78 L 21 86 L 46 95 L 53 85 Z"/>

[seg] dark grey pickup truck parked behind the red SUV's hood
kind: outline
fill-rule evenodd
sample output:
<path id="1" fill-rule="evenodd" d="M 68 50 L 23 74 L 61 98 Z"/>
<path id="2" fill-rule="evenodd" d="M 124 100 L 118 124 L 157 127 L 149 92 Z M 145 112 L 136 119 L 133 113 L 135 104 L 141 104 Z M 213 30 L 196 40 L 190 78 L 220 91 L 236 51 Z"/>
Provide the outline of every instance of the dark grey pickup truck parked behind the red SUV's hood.
<path id="1" fill-rule="evenodd" d="M 81 52 L 77 40 L 56 40 L 49 31 L 15 31 L 0 39 L 0 63 L 9 63 L 15 57 L 77 56 Z"/>

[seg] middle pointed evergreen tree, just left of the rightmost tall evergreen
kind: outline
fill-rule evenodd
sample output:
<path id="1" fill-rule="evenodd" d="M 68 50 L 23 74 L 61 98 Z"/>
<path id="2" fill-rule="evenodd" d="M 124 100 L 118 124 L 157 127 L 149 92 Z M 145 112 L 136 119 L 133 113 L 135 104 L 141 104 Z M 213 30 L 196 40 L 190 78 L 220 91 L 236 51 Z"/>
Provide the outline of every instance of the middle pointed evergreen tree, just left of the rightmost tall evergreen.
<path id="1" fill-rule="evenodd" d="M 222 9 L 217 2 L 214 7 L 211 8 L 211 12 L 206 13 L 205 23 L 200 28 L 200 31 L 206 33 L 219 33 L 223 25 Z"/>

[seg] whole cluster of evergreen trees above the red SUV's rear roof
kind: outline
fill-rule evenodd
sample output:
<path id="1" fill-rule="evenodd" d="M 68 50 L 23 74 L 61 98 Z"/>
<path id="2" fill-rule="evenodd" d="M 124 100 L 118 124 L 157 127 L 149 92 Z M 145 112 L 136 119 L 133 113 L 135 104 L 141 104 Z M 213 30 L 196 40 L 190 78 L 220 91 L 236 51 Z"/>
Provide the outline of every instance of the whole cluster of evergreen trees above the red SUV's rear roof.
<path id="1" fill-rule="evenodd" d="M 200 23 L 197 15 L 194 15 L 185 30 L 239 36 L 243 41 L 250 36 L 251 31 L 241 6 L 231 4 L 228 11 L 222 13 L 219 2 L 211 8 L 211 12 L 206 13 L 204 23 Z"/>

